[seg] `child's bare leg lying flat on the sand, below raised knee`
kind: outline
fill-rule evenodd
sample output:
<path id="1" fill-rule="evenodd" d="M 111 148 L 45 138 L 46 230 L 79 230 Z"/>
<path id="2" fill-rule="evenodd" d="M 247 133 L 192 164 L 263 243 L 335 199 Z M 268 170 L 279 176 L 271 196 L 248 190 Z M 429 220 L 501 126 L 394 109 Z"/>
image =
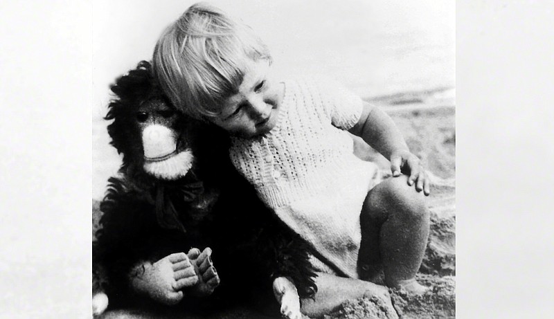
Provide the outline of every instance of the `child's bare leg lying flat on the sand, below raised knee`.
<path id="1" fill-rule="evenodd" d="M 302 299 L 301 311 L 306 316 L 320 317 L 337 309 L 348 300 L 355 300 L 361 297 L 371 298 L 376 296 L 388 305 L 391 317 L 395 318 L 395 310 L 391 302 L 391 295 L 385 286 L 379 286 L 364 280 L 337 277 L 320 273 L 316 277 L 317 293 L 314 299 Z"/>

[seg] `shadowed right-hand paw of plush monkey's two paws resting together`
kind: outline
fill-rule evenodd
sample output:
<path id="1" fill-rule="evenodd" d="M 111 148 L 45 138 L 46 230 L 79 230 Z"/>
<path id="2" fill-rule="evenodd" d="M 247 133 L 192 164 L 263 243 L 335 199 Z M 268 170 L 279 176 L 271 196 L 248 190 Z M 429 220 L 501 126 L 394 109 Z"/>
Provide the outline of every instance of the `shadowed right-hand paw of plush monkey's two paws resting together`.
<path id="1" fill-rule="evenodd" d="M 220 276 L 217 275 L 211 259 L 212 250 L 206 248 L 202 253 L 198 248 L 191 248 L 188 251 L 188 258 L 193 262 L 198 282 L 187 290 L 187 293 L 195 297 L 211 295 L 215 288 L 220 285 Z"/>

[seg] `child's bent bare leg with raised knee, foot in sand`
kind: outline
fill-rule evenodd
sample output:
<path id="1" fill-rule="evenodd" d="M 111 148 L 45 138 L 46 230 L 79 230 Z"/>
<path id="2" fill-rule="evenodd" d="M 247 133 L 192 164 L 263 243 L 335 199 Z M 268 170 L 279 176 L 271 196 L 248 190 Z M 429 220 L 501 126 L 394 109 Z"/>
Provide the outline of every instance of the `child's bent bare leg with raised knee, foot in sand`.
<path id="1" fill-rule="evenodd" d="M 368 193 L 360 217 L 359 258 L 368 264 L 369 277 L 382 263 L 387 286 L 422 293 L 425 287 L 415 281 L 415 274 L 429 236 L 429 210 L 423 193 L 409 186 L 407 177 L 387 179 Z"/>

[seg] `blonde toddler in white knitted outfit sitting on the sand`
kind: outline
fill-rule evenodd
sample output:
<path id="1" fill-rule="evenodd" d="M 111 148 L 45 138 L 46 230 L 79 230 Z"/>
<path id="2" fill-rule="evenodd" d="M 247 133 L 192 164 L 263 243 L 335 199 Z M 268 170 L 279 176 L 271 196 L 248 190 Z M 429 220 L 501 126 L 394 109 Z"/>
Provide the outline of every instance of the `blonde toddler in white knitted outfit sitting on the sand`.
<path id="1" fill-rule="evenodd" d="M 391 118 L 337 84 L 278 81 L 271 55 L 253 31 L 197 3 L 161 35 L 154 73 L 173 104 L 231 134 L 229 156 L 278 217 L 306 239 L 321 271 L 310 316 L 361 295 L 387 297 L 371 280 L 422 293 L 415 281 L 429 233 L 429 180 Z M 391 161 L 377 166 L 353 154 L 360 136 Z M 287 286 L 274 282 L 276 298 Z"/>

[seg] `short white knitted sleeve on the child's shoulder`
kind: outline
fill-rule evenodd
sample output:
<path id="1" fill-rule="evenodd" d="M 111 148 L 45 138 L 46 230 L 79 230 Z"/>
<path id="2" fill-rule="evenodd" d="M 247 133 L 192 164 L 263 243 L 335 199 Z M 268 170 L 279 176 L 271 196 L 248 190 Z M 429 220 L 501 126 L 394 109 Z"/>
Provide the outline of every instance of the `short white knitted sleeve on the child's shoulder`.
<path id="1" fill-rule="evenodd" d="M 361 116 L 361 98 L 333 80 L 321 80 L 319 86 L 322 102 L 332 125 L 346 130 L 354 127 Z"/>

